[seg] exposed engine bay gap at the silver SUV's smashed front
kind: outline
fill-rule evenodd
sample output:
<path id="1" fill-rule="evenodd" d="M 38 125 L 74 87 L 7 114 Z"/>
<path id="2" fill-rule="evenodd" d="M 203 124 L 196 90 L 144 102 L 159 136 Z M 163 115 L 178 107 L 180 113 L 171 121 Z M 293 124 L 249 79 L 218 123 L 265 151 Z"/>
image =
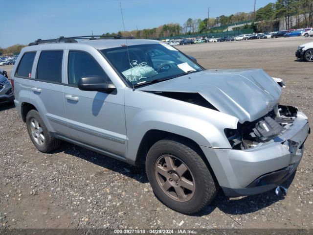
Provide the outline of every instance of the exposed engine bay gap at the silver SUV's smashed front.
<path id="1" fill-rule="evenodd" d="M 233 149 L 247 149 L 283 134 L 293 123 L 297 109 L 276 105 L 266 116 L 253 122 L 238 123 L 237 130 L 225 129 Z"/>

